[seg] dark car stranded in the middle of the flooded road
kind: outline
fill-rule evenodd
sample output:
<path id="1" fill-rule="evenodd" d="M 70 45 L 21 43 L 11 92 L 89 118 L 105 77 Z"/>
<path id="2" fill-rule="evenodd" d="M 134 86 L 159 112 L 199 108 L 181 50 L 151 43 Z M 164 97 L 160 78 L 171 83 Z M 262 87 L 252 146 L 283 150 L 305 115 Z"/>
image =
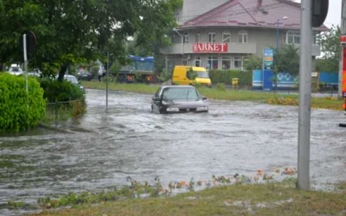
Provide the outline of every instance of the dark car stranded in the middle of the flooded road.
<path id="1" fill-rule="evenodd" d="M 152 98 L 151 111 L 168 112 L 208 112 L 207 98 L 194 86 L 161 86 Z"/>

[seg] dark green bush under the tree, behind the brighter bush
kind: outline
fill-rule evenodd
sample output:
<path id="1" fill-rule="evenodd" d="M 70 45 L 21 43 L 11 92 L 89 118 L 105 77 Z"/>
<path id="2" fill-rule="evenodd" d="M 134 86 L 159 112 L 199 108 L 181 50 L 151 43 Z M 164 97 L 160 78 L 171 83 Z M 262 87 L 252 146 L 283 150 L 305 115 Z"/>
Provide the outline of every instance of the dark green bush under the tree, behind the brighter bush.
<path id="1" fill-rule="evenodd" d="M 69 81 L 57 81 L 47 78 L 39 78 L 39 81 L 44 90 L 43 97 L 47 99 L 49 103 L 56 101 L 68 102 L 72 100 L 85 100 L 83 91 Z"/>

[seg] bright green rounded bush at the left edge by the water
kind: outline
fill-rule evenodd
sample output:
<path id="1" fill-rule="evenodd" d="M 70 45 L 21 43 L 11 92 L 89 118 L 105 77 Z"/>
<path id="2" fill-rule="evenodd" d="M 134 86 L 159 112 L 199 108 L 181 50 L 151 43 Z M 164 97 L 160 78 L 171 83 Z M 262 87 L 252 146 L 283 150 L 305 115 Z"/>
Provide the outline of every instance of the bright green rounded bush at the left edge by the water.
<path id="1" fill-rule="evenodd" d="M 45 113 L 43 89 L 34 77 L 0 73 L 0 132 L 19 132 L 38 125 Z"/>

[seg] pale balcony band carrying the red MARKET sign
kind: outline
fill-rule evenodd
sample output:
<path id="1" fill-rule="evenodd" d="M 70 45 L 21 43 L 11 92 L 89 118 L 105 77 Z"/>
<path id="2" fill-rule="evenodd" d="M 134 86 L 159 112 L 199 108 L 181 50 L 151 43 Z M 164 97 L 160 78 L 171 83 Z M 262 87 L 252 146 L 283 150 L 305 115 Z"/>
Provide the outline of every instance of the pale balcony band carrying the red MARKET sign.
<path id="1" fill-rule="evenodd" d="M 240 54 L 256 54 L 257 53 L 257 43 L 199 43 L 201 47 L 205 49 L 199 49 L 196 51 L 194 49 L 194 43 L 181 43 L 173 44 L 172 46 L 166 47 L 161 50 L 162 53 L 168 55 L 174 54 L 191 54 L 191 53 L 240 53 Z M 221 45 L 225 49 L 218 49 Z M 204 46 L 205 47 L 204 47 Z M 209 49 L 208 49 L 209 48 Z"/>

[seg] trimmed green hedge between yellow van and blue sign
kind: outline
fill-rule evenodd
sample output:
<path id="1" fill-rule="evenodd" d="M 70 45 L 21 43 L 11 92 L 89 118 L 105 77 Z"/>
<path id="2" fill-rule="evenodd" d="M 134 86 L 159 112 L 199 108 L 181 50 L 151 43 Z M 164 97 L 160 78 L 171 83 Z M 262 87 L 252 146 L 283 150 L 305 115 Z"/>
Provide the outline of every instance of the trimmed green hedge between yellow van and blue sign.
<path id="1" fill-rule="evenodd" d="M 232 78 L 239 79 L 239 85 L 252 85 L 252 72 L 238 70 L 211 70 L 209 77 L 213 84 L 232 84 Z"/>

